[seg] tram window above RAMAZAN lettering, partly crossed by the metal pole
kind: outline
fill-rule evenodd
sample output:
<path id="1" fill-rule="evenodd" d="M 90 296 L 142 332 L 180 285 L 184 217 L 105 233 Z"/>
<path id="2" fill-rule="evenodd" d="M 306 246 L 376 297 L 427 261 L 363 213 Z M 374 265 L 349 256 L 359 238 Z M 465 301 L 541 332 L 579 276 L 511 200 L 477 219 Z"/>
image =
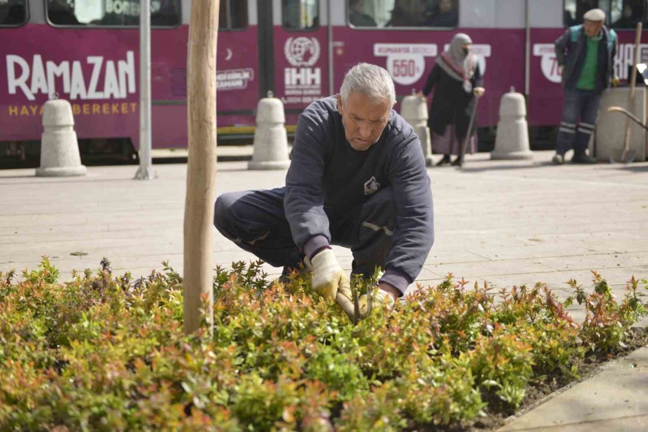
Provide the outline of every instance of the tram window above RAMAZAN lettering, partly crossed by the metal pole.
<path id="1" fill-rule="evenodd" d="M 180 0 L 150 0 L 151 25 L 180 23 Z M 139 25 L 139 0 L 47 0 L 47 19 L 54 25 L 128 27 Z"/>

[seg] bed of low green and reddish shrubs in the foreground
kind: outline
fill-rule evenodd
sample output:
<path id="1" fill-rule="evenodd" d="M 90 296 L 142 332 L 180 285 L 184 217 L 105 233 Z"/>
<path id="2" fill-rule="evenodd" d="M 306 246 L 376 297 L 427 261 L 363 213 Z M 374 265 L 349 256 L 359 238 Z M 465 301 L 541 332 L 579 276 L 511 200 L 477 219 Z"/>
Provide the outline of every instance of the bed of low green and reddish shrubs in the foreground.
<path id="1" fill-rule="evenodd" d="M 494 292 L 448 275 L 354 326 L 308 275 L 277 286 L 260 264 L 216 269 L 213 335 L 188 337 L 167 264 L 137 280 L 105 259 L 65 283 L 47 258 L 20 281 L 0 273 L 0 429 L 494 426 L 530 389 L 626 347 L 646 313 L 634 277 L 619 301 L 597 273 L 593 293 L 572 280 L 561 303 L 543 284 Z M 582 324 L 566 313 L 573 301 Z"/>

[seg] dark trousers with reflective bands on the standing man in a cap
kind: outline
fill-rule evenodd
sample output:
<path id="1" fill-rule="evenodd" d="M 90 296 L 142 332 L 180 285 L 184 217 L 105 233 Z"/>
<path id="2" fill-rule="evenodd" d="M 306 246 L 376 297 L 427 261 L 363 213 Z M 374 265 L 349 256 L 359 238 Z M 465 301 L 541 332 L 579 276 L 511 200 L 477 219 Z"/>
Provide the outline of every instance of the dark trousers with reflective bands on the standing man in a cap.
<path id="1" fill-rule="evenodd" d="M 601 93 L 594 90 L 565 89 L 556 153 L 564 155 L 572 147 L 575 153 L 584 153 L 587 150 L 590 137 L 596 130 L 600 106 Z"/>

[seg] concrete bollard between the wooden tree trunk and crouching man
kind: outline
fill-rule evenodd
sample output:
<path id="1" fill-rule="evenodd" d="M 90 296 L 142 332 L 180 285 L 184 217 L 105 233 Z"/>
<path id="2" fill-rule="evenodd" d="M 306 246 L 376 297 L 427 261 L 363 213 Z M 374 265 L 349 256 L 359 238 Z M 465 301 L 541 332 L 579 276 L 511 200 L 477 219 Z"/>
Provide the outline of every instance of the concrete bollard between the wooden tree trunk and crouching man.
<path id="1" fill-rule="evenodd" d="M 283 103 L 268 91 L 257 106 L 257 130 L 254 133 L 252 160 L 248 170 L 283 170 L 290 165 L 288 135 Z"/>

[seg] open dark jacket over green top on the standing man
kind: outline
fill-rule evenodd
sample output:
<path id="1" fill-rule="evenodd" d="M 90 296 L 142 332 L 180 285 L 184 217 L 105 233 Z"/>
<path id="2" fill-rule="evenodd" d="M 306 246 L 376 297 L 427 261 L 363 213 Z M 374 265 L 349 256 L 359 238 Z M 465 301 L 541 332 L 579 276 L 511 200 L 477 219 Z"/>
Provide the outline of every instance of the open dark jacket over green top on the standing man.
<path id="1" fill-rule="evenodd" d="M 596 93 L 601 93 L 610 87 L 610 82 L 614 77 L 614 56 L 618 44 L 614 30 L 603 26 L 601 32 L 603 32 L 603 37 L 599 41 L 598 69 L 596 87 L 594 87 Z M 566 89 L 575 89 L 583 71 L 587 52 L 587 36 L 585 36 L 583 25 L 575 25 L 565 30 L 554 45 L 558 65 L 563 66 L 562 84 Z"/>

